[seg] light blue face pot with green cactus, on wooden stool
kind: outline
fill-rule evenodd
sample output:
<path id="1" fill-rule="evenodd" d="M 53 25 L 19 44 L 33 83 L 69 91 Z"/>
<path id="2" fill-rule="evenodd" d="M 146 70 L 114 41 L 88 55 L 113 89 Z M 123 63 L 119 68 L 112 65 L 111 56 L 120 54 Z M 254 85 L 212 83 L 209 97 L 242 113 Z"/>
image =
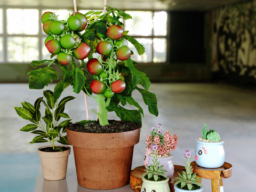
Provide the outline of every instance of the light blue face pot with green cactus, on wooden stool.
<path id="1" fill-rule="evenodd" d="M 202 130 L 203 137 L 199 137 L 196 142 L 195 159 L 199 166 L 206 168 L 221 167 L 225 163 L 224 141 L 220 139 L 218 132 L 207 131 L 206 124 Z"/>

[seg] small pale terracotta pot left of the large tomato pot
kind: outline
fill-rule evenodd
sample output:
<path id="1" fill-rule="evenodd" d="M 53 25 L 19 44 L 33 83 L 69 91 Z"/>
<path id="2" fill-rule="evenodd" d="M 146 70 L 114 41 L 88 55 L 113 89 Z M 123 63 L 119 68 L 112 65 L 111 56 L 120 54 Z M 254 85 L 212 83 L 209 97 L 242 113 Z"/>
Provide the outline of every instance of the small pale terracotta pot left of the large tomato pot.
<path id="1" fill-rule="evenodd" d="M 70 147 L 68 146 L 55 146 L 55 147 L 67 147 L 68 150 L 58 152 L 44 152 L 40 149 L 52 147 L 44 146 L 38 148 L 38 155 L 41 158 L 41 165 L 43 170 L 43 176 L 46 180 L 61 180 L 66 178 L 68 155 L 70 154 Z"/>

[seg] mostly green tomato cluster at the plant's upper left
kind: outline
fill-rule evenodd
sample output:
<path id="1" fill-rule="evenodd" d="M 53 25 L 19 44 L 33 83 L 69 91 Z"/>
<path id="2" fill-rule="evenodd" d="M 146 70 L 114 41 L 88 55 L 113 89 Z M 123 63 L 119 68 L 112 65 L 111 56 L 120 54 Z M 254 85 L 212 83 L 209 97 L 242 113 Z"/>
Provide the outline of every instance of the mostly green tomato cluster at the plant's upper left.
<path id="1" fill-rule="evenodd" d="M 68 65 L 73 56 L 83 60 L 90 54 L 90 46 L 78 35 L 79 31 L 85 29 L 87 19 L 82 13 L 76 12 L 70 15 L 67 21 L 59 21 L 52 12 L 42 15 L 43 30 L 48 35 L 45 46 L 52 54 L 58 54 L 57 60 L 62 65 Z"/>

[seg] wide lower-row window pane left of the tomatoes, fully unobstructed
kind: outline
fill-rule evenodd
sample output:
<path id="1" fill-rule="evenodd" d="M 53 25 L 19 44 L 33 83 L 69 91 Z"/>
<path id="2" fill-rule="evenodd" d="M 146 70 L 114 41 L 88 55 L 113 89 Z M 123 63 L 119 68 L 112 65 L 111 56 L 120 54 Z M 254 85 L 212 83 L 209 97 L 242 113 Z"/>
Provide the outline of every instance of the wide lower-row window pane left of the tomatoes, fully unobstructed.
<path id="1" fill-rule="evenodd" d="M 30 62 L 38 60 L 38 38 L 36 37 L 8 37 L 7 61 Z"/>

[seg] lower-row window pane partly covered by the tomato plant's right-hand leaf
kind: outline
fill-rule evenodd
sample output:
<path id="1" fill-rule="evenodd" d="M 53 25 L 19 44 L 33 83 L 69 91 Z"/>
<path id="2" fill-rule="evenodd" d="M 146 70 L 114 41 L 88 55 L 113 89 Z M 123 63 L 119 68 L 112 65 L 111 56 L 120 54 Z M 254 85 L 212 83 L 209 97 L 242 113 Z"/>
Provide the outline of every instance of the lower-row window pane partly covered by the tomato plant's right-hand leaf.
<path id="1" fill-rule="evenodd" d="M 136 38 L 137 41 L 145 47 L 145 53 L 139 55 L 135 47 L 128 42 L 128 46 L 133 51 L 132 60 L 137 62 L 152 62 L 152 39 L 151 38 Z"/>

